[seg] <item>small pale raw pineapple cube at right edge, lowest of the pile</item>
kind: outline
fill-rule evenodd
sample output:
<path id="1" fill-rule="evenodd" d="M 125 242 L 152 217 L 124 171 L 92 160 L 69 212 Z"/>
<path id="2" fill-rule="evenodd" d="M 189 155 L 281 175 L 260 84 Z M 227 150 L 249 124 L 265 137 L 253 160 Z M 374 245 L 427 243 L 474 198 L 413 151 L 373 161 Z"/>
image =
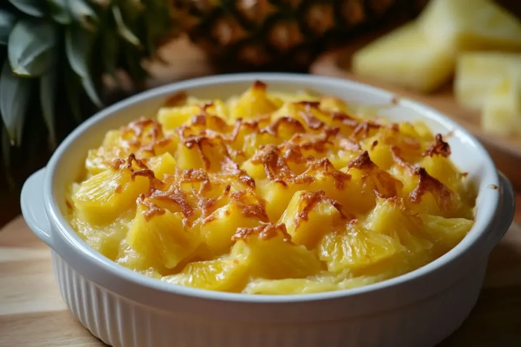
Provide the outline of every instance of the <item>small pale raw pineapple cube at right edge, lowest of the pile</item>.
<path id="1" fill-rule="evenodd" d="M 499 136 L 521 135 L 521 71 L 492 90 L 481 114 L 481 127 Z"/>

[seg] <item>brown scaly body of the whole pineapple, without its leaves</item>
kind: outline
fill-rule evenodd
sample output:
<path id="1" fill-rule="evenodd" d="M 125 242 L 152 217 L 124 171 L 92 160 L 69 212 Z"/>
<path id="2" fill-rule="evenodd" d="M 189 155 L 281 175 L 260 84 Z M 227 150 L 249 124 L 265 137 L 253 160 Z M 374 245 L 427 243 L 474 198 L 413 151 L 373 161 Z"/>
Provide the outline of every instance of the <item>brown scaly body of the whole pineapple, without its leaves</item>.
<path id="1" fill-rule="evenodd" d="M 427 0 L 172 0 L 191 40 L 221 64 L 297 70 L 344 41 Z M 385 16 L 384 16 L 385 15 Z"/>

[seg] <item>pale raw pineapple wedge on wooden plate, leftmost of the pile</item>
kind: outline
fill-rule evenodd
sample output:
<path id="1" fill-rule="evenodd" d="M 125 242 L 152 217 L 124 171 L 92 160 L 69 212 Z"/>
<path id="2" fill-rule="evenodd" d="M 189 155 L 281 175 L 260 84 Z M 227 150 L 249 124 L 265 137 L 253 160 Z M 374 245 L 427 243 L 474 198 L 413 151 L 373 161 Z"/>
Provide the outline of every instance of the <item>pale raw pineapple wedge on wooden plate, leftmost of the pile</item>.
<path id="1" fill-rule="evenodd" d="M 416 24 L 409 23 L 356 52 L 352 69 L 361 76 L 427 93 L 450 79 L 454 55 L 428 42 Z"/>

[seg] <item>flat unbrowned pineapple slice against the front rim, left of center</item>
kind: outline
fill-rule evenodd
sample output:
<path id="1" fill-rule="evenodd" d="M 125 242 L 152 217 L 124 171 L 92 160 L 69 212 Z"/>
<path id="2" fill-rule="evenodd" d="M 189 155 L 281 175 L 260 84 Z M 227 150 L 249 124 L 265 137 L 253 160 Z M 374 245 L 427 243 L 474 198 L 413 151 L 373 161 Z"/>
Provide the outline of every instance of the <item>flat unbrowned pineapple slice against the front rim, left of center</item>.
<path id="1" fill-rule="evenodd" d="M 246 269 L 243 260 L 224 257 L 189 263 L 179 274 L 165 276 L 162 280 L 193 288 L 240 292 L 247 282 Z"/>

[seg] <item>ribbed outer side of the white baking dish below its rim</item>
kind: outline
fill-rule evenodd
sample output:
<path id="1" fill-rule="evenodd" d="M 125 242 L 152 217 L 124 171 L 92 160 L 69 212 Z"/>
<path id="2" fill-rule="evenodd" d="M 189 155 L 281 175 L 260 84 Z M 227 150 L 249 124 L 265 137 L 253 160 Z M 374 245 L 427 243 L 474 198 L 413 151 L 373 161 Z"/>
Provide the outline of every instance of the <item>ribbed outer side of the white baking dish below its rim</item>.
<path id="1" fill-rule="evenodd" d="M 52 259 L 61 295 L 72 314 L 115 347 L 434 346 L 467 317 L 486 269 L 486 262 L 477 263 L 452 287 L 400 310 L 337 322 L 259 325 L 181 317 L 137 305 L 78 274 L 54 251 Z"/>

